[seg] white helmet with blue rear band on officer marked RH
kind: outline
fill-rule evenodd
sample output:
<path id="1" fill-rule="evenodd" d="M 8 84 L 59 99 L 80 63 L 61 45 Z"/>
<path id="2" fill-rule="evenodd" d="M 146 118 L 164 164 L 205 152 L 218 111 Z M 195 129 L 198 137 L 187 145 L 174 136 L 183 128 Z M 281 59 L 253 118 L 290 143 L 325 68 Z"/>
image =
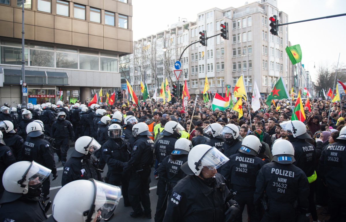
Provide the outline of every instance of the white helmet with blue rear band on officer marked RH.
<path id="1" fill-rule="evenodd" d="M 246 138 L 246 137 L 245 137 Z M 292 164 L 294 159 L 294 147 L 288 140 L 276 140 L 272 148 L 273 161 L 279 164 Z"/>

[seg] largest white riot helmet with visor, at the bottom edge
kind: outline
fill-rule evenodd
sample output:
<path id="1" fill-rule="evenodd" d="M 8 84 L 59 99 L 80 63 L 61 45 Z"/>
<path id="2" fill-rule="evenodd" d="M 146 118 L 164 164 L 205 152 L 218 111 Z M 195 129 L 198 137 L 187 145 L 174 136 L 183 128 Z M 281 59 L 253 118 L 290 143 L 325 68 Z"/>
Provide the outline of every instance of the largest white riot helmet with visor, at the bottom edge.
<path id="1" fill-rule="evenodd" d="M 53 201 L 47 222 L 108 220 L 121 197 L 121 189 L 94 179 L 72 181 L 63 186 Z M 98 217 L 98 213 L 101 213 Z M 53 219 L 54 218 L 54 219 Z"/>

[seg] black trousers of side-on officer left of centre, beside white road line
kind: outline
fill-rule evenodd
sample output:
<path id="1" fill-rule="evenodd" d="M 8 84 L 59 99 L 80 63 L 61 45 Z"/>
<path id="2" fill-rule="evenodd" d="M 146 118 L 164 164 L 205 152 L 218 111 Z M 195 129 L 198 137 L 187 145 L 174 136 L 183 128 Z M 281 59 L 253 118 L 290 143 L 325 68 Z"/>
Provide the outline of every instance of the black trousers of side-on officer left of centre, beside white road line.
<path id="1" fill-rule="evenodd" d="M 151 213 L 150 197 L 149 197 L 149 176 L 151 168 L 145 168 L 141 172 L 132 172 L 130 176 L 128 196 L 132 209 L 136 214 L 142 213 L 142 201 L 145 214 Z"/>

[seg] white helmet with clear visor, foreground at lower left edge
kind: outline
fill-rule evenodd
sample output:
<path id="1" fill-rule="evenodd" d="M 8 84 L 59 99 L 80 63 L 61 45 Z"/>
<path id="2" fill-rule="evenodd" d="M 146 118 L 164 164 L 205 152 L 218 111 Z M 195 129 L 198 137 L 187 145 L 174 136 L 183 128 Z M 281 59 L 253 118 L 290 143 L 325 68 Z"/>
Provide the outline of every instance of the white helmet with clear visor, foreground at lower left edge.
<path id="1" fill-rule="evenodd" d="M 30 188 L 39 187 L 51 172 L 52 170 L 35 161 L 19 161 L 7 167 L 2 176 L 2 184 L 12 194 L 12 198 L 17 200 L 22 194 L 27 194 Z"/>

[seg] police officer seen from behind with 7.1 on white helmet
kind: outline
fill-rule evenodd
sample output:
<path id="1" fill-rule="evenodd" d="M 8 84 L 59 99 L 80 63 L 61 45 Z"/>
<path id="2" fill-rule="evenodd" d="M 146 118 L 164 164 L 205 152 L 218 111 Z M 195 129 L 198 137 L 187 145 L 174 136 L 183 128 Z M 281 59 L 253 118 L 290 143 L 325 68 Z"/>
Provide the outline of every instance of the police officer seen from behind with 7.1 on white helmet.
<path id="1" fill-rule="evenodd" d="M 26 127 L 28 137 L 22 146 L 22 160 L 35 161 L 52 170 L 53 181 L 58 177 L 51 144 L 43 139 L 42 126 L 38 122 L 30 122 Z M 51 182 L 48 179 L 43 183 L 43 196 L 47 200 Z"/>

